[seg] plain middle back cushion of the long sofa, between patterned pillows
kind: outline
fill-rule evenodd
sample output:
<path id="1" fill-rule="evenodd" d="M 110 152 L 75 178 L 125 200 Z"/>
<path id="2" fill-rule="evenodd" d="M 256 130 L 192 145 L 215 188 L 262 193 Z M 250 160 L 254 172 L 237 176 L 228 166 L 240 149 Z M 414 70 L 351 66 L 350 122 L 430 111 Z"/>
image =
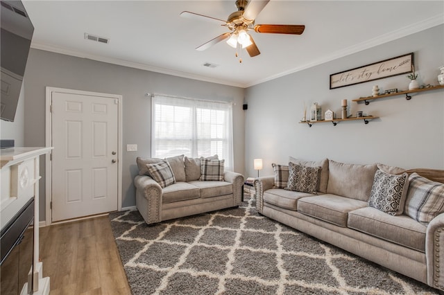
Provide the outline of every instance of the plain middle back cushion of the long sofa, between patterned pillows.
<path id="1" fill-rule="evenodd" d="M 327 193 L 368 201 L 376 164 L 355 165 L 329 160 Z"/>

